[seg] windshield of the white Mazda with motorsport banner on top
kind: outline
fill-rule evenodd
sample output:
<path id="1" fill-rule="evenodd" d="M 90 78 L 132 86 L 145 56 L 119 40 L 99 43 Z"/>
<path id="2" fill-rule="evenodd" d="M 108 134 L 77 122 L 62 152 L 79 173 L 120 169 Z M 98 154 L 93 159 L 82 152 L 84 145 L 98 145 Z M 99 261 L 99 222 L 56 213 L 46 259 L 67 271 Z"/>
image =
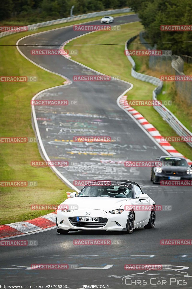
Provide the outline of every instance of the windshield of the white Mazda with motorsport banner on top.
<path id="1" fill-rule="evenodd" d="M 115 186 L 87 185 L 77 197 L 107 197 L 107 198 L 133 198 L 133 189 L 130 184 Z"/>

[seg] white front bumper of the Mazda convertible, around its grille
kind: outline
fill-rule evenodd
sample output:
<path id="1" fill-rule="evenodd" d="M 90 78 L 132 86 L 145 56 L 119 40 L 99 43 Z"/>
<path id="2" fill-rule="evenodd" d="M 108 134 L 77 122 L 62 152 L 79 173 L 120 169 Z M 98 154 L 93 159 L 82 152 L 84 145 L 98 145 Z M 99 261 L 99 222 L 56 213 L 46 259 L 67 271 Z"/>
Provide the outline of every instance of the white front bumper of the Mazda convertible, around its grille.
<path id="1" fill-rule="evenodd" d="M 85 215 L 86 212 L 90 212 L 90 215 Z M 82 224 L 81 222 L 77 224 L 75 218 L 76 217 L 98 217 L 99 218 L 99 224 L 101 224 L 100 227 L 97 226 L 97 223 L 87 223 Z M 57 223 L 58 223 L 58 229 L 64 229 L 64 230 L 105 230 L 105 231 L 124 231 L 126 230 L 126 224 L 127 224 L 127 217 L 128 217 L 128 211 L 123 211 L 121 214 L 110 214 L 106 213 L 103 210 L 85 210 L 85 209 L 79 209 L 74 210 L 69 213 L 63 213 L 61 211 L 57 211 Z M 70 220 L 69 220 L 70 218 Z M 107 219 L 107 221 L 106 221 Z M 62 222 L 63 220 L 63 222 Z M 60 224 L 62 222 L 62 224 Z M 119 225 L 117 225 L 117 223 Z M 97 227 L 96 227 L 97 226 Z"/>

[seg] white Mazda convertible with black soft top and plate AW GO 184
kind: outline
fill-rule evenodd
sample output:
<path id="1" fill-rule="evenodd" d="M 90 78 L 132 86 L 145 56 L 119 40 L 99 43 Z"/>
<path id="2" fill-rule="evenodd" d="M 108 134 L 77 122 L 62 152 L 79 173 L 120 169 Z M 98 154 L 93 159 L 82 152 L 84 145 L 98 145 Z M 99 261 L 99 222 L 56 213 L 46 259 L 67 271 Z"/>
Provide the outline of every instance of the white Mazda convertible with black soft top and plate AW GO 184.
<path id="1" fill-rule="evenodd" d="M 61 203 L 56 219 L 58 233 L 106 230 L 131 234 L 135 228 L 155 226 L 155 202 L 138 184 L 125 180 L 93 182 Z"/>

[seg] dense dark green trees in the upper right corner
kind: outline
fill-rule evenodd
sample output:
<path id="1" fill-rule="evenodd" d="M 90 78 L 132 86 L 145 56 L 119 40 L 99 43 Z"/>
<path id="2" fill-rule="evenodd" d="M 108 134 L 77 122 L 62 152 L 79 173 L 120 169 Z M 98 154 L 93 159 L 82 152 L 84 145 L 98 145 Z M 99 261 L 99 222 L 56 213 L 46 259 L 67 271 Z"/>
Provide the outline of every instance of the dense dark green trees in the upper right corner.
<path id="1" fill-rule="evenodd" d="M 172 54 L 191 55 L 192 42 L 187 41 L 191 41 L 192 31 L 170 32 L 159 28 L 176 24 L 192 26 L 191 0 L 128 0 L 128 6 L 139 14 L 148 42 L 157 43 L 159 49 L 170 49 Z"/>

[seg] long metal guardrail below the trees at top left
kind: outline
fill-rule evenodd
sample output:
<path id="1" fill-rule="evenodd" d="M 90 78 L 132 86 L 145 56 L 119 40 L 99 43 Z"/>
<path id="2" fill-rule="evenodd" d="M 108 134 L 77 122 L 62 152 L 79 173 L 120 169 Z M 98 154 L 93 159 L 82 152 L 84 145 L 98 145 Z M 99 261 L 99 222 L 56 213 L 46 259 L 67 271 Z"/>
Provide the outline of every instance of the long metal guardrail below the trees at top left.
<path id="1" fill-rule="evenodd" d="M 96 17 L 96 16 L 104 16 L 106 14 L 126 13 L 126 12 L 131 12 L 131 11 L 133 11 L 131 8 L 121 8 L 121 9 L 116 9 L 116 10 L 92 12 L 92 13 L 88 13 L 88 14 L 81 14 L 81 15 L 73 16 L 73 17 L 67 17 L 67 18 L 51 20 L 51 21 L 47 21 L 47 22 L 41 22 L 41 23 L 26 25 L 26 27 L 28 27 L 28 29 L 35 28 L 35 27 L 40 28 L 40 27 L 50 26 L 50 25 L 54 25 L 54 24 L 71 22 L 74 20 L 87 19 L 87 18 L 92 18 L 92 17 Z M 25 26 L 25 25 L 23 25 L 23 26 Z M 18 33 L 18 32 L 20 32 L 20 31 L 1 32 L 0 38 L 3 36 L 10 35 L 10 34 Z"/>

